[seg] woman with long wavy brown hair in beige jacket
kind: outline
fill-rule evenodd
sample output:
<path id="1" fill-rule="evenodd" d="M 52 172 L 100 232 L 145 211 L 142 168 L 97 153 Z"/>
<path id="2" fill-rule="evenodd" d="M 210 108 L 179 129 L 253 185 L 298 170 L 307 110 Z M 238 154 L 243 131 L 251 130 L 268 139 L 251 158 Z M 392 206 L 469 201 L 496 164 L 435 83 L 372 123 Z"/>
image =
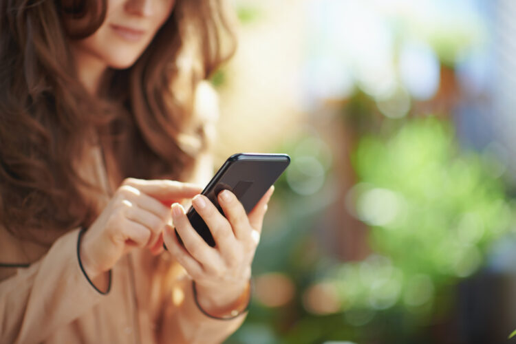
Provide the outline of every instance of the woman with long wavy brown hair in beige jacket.
<path id="1" fill-rule="evenodd" d="M 213 116 L 195 97 L 233 50 L 222 4 L 0 4 L 0 343 L 223 341 L 272 189 L 249 215 L 221 193 L 227 219 L 197 195 Z"/>

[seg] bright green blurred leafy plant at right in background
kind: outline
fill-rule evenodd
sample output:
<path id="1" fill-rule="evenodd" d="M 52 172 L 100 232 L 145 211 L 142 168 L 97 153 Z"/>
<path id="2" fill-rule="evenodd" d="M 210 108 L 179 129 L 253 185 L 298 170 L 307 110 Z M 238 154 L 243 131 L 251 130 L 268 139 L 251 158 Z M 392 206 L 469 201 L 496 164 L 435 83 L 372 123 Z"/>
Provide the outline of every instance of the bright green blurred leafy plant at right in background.
<path id="1" fill-rule="evenodd" d="M 395 305 L 428 315 L 436 295 L 482 266 L 513 216 L 489 161 L 459 151 L 451 127 L 435 118 L 409 120 L 389 138 L 361 139 L 360 182 L 347 206 L 371 227 L 374 254 L 314 283 L 338 295 L 348 323 L 367 323 Z"/>

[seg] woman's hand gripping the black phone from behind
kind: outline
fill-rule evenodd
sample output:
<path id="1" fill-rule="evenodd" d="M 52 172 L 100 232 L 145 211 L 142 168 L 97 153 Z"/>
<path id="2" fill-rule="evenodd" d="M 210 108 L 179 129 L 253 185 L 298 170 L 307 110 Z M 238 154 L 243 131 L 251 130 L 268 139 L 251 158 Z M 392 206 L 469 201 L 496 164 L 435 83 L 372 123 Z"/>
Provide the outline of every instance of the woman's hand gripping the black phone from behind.
<path id="1" fill-rule="evenodd" d="M 226 217 L 206 196 L 195 196 L 192 204 L 210 228 L 215 239 L 214 248 L 193 229 L 182 206 L 173 204 L 173 224 L 184 246 L 169 226 L 164 231 L 164 241 L 171 254 L 195 280 L 200 298 L 205 300 L 204 305 L 223 308 L 246 290 L 273 191 L 274 186 L 271 186 L 249 215 L 233 193 L 222 191 L 218 202 Z"/>

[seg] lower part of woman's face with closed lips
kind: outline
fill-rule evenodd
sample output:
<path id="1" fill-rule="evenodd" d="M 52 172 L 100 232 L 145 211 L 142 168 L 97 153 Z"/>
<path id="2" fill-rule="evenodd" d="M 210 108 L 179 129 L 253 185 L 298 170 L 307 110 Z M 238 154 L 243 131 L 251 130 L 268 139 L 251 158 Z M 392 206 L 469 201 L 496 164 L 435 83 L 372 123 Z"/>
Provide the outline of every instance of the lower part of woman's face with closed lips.
<path id="1" fill-rule="evenodd" d="M 169 18 L 175 0 L 107 0 L 103 24 L 76 41 L 79 54 L 94 56 L 108 67 L 130 67 Z"/>

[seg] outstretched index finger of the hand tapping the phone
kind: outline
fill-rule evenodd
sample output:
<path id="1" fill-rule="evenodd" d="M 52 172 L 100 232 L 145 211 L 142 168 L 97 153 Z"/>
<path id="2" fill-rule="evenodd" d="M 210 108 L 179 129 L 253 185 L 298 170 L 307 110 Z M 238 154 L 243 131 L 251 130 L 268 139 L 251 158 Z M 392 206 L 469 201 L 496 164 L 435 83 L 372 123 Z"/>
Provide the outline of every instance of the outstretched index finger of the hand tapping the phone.
<path id="1" fill-rule="evenodd" d="M 127 178 L 124 184 L 133 186 L 142 191 L 142 193 L 146 193 L 160 201 L 191 198 L 202 191 L 201 186 L 192 183 L 178 182 L 176 180 L 142 180 Z"/>

